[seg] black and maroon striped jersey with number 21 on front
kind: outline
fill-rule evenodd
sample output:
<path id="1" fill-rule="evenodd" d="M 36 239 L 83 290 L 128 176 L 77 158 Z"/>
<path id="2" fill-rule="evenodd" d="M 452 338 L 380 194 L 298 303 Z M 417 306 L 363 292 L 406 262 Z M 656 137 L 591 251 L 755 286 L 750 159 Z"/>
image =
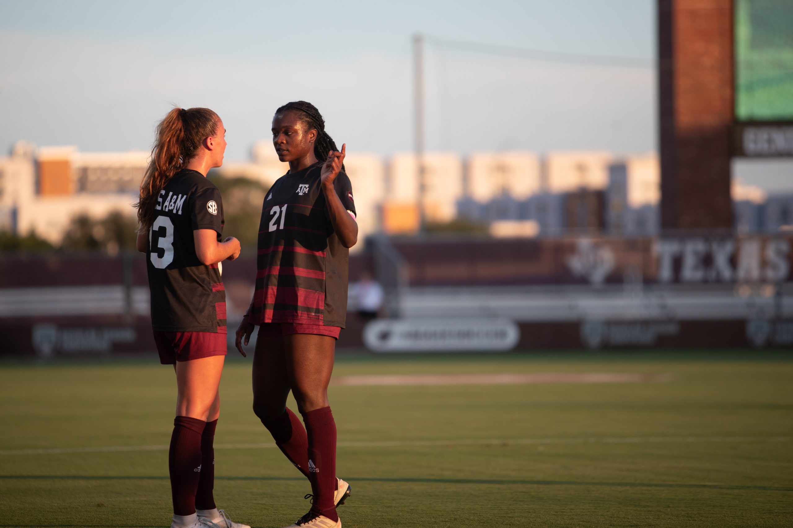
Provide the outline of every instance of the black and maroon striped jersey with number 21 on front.
<path id="1" fill-rule="evenodd" d="M 322 162 L 286 173 L 267 191 L 259 223 L 252 321 L 339 326 L 347 320 L 349 252 L 335 234 L 322 192 Z M 352 186 L 333 181 L 355 215 Z"/>

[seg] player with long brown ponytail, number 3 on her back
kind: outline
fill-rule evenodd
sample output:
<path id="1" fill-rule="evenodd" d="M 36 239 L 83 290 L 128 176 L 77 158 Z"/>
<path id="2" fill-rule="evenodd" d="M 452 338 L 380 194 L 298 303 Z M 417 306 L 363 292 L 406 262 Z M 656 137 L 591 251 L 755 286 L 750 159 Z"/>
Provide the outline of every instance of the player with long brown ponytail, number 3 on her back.
<path id="1" fill-rule="evenodd" d="M 136 204 L 137 249 L 147 255 L 155 343 L 160 363 L 176 370 L 176 419 L 168 453 L 172 528 L 250 528 L 218 511 L 212 492 L 218 387 L 226 355 L 220 261 L 239 256 L 236 238 L 220 241 L 223 202 L 206 179 L 209 169 L 223 164 L 225 133 L 209 108 L 168 112 L 157 127 Z"/>

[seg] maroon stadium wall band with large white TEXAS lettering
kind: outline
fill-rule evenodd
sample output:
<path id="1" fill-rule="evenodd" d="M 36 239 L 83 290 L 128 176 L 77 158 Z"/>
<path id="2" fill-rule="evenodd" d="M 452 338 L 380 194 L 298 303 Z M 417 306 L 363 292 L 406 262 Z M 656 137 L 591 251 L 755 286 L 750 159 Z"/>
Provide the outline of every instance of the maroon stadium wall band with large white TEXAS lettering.
<path id="1" fill-rule="evenodd" d="M 422 286 L 785 283 L 793 237 L 394 241 Z"/>

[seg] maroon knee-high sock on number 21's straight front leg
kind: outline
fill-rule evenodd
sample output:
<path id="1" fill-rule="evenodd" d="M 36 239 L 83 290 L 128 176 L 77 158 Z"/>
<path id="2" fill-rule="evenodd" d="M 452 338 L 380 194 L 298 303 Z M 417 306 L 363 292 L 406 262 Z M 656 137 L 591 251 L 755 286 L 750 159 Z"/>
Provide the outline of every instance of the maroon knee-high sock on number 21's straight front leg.
<path id="1" fill-rule="evenodd" d="M 312 509 L 338 521 L 333 500 L 336 487 L 336 423 L 330 407 L 303 415 L 308 434 L 308 480 L 314 493 Z"/>

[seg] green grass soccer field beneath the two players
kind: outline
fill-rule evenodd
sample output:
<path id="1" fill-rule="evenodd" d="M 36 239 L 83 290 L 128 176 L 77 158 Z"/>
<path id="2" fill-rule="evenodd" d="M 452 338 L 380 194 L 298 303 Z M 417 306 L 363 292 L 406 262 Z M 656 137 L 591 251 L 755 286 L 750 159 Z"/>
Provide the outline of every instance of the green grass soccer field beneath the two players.
<path id="1" fill-rule="evenodd" d="M 285 526 L 310 488 L 251 412 L 249 362 L 224 371 L 216 501 L 251 526 Z M 0 526 L 169 526 L 169 367 L 0 368 Z M 331 387 L 339 477 L 353 487 L 343 526 L 793 526 L 791 352 L 339 355 L 335 369 L 515 372 L 673 378 Z M 130 449 L 100 450 L 118 446 Z M 60 451 L 19 452 L 36 449 Z"/>

